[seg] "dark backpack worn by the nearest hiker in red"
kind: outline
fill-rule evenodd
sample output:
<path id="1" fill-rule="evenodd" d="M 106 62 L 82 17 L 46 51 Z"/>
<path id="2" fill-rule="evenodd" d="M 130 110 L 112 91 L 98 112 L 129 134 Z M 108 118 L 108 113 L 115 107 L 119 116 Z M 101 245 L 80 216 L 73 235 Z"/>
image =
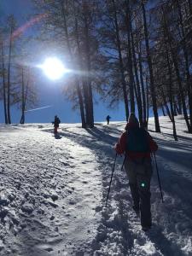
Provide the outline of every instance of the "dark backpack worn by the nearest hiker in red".
<path id="1" fill-rule="evenodd" d="M 150 152 L 148 132 L 143 128 L 134 127 L 127 131 L 126 151 L 146 153 Z"/>

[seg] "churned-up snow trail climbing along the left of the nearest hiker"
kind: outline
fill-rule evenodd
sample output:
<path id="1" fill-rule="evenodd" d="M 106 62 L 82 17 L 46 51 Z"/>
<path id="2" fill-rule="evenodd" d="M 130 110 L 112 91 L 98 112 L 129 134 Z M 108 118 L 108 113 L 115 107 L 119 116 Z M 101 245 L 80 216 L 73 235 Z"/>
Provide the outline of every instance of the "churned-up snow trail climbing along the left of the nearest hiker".
<path id="1" fill-rule="evenodd" d="M 102 215 L 102 221 L 92 244 L 91 255 L 148 255 L 148 253 L 163 255 L 155 249 L 148 236 L 141 230 L 139 219 L 131 210 L 127 177 L 125 172 L 120 172 L 123 158 L 118 158 L 108 208 L 104 207 L 115 156 L 113 145 L 118 140 L 121 127 L 122 124 L 113 125 L 113 127 L 98 125 L 84 132 L 86 137 L 84 134 L 79 135 L 79 143 L 95 151 L 102 170 L 102 206 L 97 208 L 98 216 Z M 64 137 L 73 139 L 75 132 L 69 128 L 63 129 L 62 134 Z"/>

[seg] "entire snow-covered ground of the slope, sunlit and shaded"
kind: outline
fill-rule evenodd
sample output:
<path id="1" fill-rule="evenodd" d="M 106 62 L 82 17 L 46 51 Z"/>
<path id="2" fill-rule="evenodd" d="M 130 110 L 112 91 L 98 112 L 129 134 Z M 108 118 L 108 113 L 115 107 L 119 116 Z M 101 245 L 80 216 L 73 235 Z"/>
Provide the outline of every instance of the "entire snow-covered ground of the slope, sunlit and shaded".
<path id="1" fill-rule="evenodd" d="M 108 200 L 108 183 L 125 122 L 94 129 L 62 124 L 0 125 L 0 255 L 192 255 L 192 136 L 177 117 L 160 118 L 161 134 L 152 180 L 153 228 L 143 232 L 131 209 L 123 157 L 118 156 Z"/>

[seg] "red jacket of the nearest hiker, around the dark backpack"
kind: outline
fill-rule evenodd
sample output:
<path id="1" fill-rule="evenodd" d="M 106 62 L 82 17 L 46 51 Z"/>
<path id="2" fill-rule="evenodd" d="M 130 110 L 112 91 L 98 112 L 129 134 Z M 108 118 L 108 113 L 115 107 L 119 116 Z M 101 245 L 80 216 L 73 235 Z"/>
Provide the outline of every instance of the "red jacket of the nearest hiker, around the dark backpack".
<path id="1" fill-rule="evenodd" d="M 129 130 L 129 128 L 134 128 L 133 124 L 127 124 L 126 130 Z M 148 136 L 148 144 L 150 148 L 150 152 L 132 152 L 132 151 L 126 151 L 126 154 L 132 159 L 137 160 L 139 158 L 150 158 L 150 153 L 155 152 L 158 149 L 157 143 L 154 142 L 153 138 L 149 135 L 149 133 L 146 133 Z M 126 143 L 127 143 L 127 132 L 125 131 L 121 137 L 119 138 L 119 142 L 115 144 L 115 150 L 117 154 L 123 154 L 126 149 Z"/>

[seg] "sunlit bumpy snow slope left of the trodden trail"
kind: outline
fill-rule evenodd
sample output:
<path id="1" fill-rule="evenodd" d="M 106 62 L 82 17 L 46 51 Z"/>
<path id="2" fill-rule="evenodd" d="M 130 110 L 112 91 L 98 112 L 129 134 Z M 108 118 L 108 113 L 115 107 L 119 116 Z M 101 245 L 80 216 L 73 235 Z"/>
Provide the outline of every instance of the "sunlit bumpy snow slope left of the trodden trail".
<path id="1" fill-rule="evenodd" d="M 0 255 L 80 255 L 95 236 L 101 194 L 94 154 L 38 129 L 7 129 L 0 132 Z"/>

